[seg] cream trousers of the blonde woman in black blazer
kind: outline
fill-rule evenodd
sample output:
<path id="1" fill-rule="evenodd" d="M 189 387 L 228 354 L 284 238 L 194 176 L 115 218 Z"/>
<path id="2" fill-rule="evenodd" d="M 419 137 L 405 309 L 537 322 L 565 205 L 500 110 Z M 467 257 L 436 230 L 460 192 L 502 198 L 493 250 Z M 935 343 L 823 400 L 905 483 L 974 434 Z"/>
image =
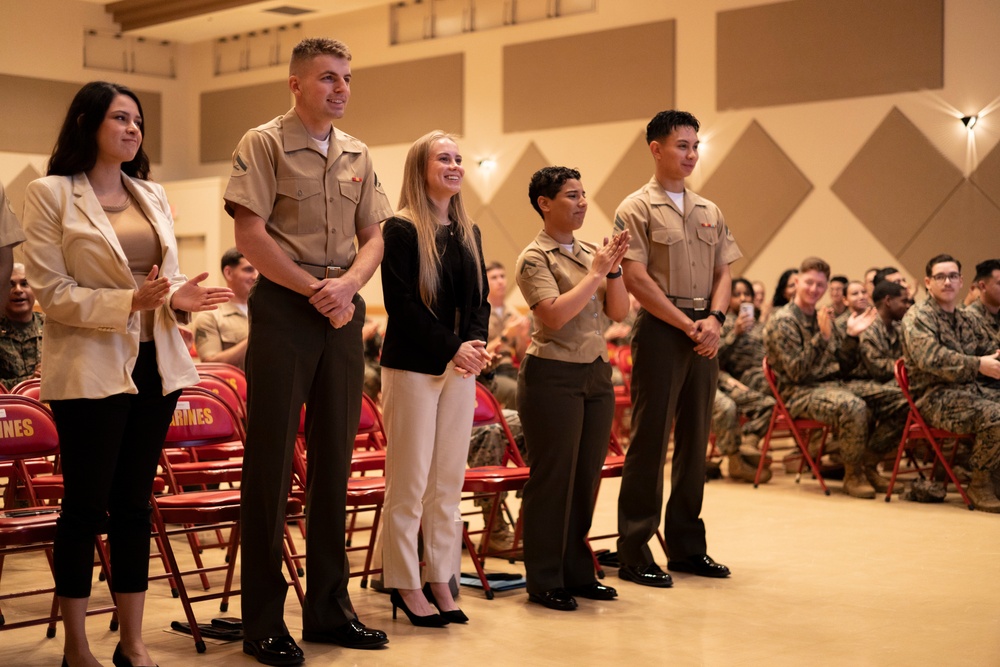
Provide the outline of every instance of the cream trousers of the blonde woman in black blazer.
<path id="1" fill-rule="evenodd" d="M 459 500 L 476 407 L 475 382 L 456 373 L 451 363 L 443 375 L 382 368 L 388 445 L 380 542 L 386 588 L 420 588 L 421 528 L 426 581 L 447 582 L 458 576 Z"/>

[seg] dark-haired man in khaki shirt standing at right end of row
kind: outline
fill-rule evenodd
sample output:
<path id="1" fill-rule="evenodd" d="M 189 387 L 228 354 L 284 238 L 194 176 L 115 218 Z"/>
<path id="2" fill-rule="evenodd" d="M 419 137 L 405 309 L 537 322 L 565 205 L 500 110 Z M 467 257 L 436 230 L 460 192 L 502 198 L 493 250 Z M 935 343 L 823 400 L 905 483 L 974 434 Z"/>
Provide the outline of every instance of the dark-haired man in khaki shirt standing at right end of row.
<path id="1" fill-rule="evenodd" d="M 675 421 L 663 524 L 667 569 L 729 576 L 729 568 L 706 553 L 699 515 L 729 265 L 742 253 L 719 208 L 684 187 L 698 163 L 698 128 L 684 111 L 661 111 L 649 122 L 654 176 L 615 213 L 615 229 L 632 235 L 622 263 L 625 285 L 642 306 L 632 339 L 632 438 L 618 497 L 618 576 L 660 588 L 673 582 L 647 542 L 660 522 L 663 464 Z"/>

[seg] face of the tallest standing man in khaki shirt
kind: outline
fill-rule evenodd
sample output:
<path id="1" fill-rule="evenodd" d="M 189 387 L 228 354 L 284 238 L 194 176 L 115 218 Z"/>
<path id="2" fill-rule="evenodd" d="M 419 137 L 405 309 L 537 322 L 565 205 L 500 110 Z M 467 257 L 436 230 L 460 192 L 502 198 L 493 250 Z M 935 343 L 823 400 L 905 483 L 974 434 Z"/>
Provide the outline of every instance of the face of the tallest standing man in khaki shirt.
<path id="1" fill-rule="evenodd" d="M 299 63 L 288 77 L 296 111 L 309 122 L 332 122 L 344 117 L 351 99 L 351 61 L 331 55 Z"/>

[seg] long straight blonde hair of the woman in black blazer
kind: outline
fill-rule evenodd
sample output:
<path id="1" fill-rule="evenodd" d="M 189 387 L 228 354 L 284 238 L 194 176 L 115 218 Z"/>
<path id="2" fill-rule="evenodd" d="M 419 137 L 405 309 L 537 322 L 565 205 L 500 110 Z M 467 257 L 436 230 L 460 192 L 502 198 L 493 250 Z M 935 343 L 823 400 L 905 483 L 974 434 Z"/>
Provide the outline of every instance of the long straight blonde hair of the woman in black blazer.
<path id="1" fill-rule="evenodd" d="M 455 141 L 455 137 L 434 130 L 413 142 L 403 165 L 403 189 L 399 194 L 399 217 L 413 223 L 417 229 L 417 255 L 420 260 L 420 300 L 433 310 L 434 298 L 441 282 L 441 255 L 437 249 L 438 216 L 434 203 L 427 195 L 427 163 L 434 143 L 441 139 Z M 478 267 L 481 263 L 472 220 L 465 213 L 462 193 L 459 191 L 448 202 L 448 219 L 458 228 L 458 238 Z M 483 293 L 483 276 L 476 271 L 479 294 Z"/>

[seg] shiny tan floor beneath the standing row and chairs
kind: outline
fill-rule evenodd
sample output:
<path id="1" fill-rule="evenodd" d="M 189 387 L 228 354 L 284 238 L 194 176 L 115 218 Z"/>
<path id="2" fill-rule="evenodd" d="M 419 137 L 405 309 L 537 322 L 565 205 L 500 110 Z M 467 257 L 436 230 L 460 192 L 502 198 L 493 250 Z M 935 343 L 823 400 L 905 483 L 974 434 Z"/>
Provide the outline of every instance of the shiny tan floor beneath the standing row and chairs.
<path id="1" fill-rule="evenodd" d="M 445 629 L 415 628 L 402 614 L 392 620 L 388 597 L 353 579 L 361 620 L 388 632 L 388 647 L 351 651 L 303 642 L 307 664 L 1000 665 L 1000 516 L 970 512 L 955 494 L 939 505 L 886 504 L 849 498 L 832 482 L 826 497 L 814 481 L 796 484 L 778 463 L 775 472 L 756 490 L 728 480 L 706 488 L 709 553 L 730 566 L 730 579 L 675 575 L 674 587 L 661 590 L 609 570 L 605 583 L 619 598 L 581 600 L 571 613 L 530 604 L 523 589 L 486 600 L 463 588 L 459 602 L 472 620 Z M 614 530 L 617 495 L 618 480 L 606 480 L 596 531 Z M 498 560 L 488 568 L 523 571 Z M 471 570 L 468 559 L 464 569 Z M 48 577 L 41 556 L 11 557 L 0 585 L 10 590 Z M 100 593 L 95 586 L 95 603 L 103 601 Z M 13 622 L 46 605 L 15 600 L 3 611 Z M 153 583 L 146 610 L 146 642 L 161 666 L 257 664 L 240 642 L 209 643 L 199 655 L 190 637 L 173 634 L 170 622 L 183 620 L 183 612 L 165 582 Z M 196 611 L 202 622 L 221 615 L 215 602 Z M 238 600 L 226 615 L 239 615 Z M 117 633 L 108 630 L 108 618 L 92 617 L 88 626 L 95 654 L 110 665 Z M 298 637 L 301 613 L 292 593 L 285 618 Z M 61 636 L 60 628 L 46 639 L 43 626 L 0 632 L 0 665 L 58 665 Z"/>

